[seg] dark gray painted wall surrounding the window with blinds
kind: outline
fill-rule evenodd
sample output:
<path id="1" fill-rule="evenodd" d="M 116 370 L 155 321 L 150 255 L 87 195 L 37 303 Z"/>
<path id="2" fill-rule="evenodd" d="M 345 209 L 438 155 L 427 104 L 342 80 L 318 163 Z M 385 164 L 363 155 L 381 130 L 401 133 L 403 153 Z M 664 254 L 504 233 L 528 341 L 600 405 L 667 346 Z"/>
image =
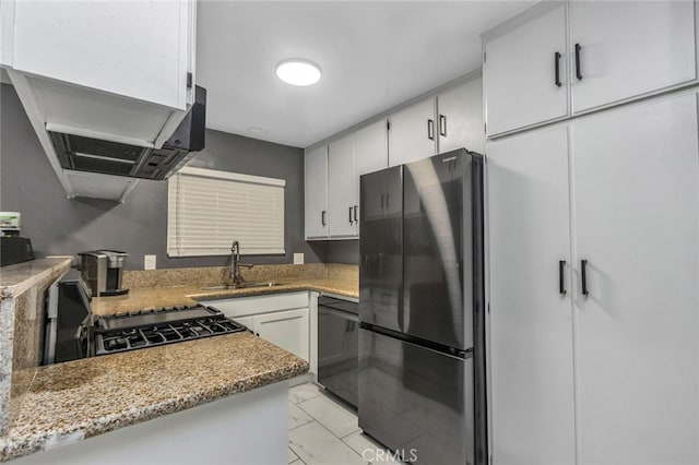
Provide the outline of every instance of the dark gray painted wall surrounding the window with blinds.
<path id="1" fill-rule="evenodd" d="M 108 248 L 127 251 L 130 270 L 142 269 L 146 253 L 157 255 L 158 269 L 227 263 L 225 257 L 167 258 L 166 181 L 139 181 L 125 203 L 66 199 L 14 88 L 0 87 L 0 210 L 22 213 L 22 235 L 38 257 Z M 192 165 L 286 180 L 286 254 L 246 262 L 292 263 L 294 252 L 318 262 L 336 254 L 323 247 L 317 252 L 304 240 L 303 150 L 206 130 L 206 148 Z"/>

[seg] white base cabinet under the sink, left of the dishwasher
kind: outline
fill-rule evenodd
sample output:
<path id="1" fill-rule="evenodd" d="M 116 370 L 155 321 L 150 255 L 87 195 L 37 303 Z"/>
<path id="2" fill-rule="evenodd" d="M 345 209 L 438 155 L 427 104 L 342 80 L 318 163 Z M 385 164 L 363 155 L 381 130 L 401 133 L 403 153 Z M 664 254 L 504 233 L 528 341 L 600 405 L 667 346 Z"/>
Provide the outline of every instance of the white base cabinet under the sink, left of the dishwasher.
<path id="1" fill-rule="evenodd" d="M 295 356 L 310 361 L 308 293 L 204 300 L 250 331 Z"/>

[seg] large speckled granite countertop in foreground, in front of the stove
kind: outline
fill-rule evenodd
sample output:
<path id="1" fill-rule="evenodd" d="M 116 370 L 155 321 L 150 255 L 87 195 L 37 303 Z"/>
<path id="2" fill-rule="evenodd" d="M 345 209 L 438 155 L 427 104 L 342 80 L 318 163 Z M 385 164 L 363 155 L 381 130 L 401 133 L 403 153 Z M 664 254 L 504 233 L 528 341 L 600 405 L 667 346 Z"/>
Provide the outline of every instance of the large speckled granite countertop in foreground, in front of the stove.
<path id="1" fill-rule="evenodd" d="M 307 371 L 307 361 L 247 332 L 39 367 L 12 405 L 0 462 Z"/>

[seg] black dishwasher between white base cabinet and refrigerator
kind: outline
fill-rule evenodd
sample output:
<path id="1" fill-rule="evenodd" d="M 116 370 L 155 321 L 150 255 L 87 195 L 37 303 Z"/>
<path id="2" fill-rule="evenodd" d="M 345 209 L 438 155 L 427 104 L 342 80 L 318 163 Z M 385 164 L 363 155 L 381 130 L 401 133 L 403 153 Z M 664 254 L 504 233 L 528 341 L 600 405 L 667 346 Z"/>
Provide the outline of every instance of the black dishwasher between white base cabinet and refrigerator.
<path id="1" fill-rule="evenodd" d="M 318 383 L 357 408 L 359 317 L 357 302 L 318 298 Z"/>

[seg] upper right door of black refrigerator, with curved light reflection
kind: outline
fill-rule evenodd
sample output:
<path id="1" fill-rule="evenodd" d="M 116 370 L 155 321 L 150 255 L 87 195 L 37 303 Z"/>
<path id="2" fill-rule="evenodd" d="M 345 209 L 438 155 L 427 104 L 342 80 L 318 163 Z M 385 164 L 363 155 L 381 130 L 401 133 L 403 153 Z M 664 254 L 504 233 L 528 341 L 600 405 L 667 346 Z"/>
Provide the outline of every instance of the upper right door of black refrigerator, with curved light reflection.
<path id="1" fill-rule="evenodd" d="M 406 334 L 473 346 L 474 156 L 448 152 L 404 167 L 403 320 Z"/>

